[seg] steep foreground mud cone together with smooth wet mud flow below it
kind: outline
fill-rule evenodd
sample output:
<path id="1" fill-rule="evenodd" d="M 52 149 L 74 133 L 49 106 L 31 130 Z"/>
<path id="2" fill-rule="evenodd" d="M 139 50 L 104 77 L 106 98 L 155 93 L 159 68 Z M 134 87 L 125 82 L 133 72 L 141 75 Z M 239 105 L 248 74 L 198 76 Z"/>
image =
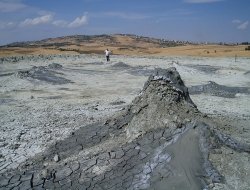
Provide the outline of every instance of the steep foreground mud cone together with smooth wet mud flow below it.
<path id="1" fill-rule="evenodd" d="M 128 108 L 128 115 L 129 142 L 147 155 L 131 189 L 206 187 L 201 177 L 206 176 L 206 159 L 200 150 L 200 131 L 195 129 L 202 116 L 175 68 L 155 70 Z"/>

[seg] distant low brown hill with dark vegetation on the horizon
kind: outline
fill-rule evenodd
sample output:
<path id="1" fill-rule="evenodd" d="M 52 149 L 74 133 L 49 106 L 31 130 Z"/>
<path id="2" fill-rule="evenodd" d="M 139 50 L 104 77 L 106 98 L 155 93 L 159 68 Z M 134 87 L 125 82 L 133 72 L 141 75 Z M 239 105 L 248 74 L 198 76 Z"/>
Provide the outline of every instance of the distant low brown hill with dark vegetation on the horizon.
<path id="1" fill-rule="evenodd" d="M 73 35 L 48 38 L 40 41 L 15 42 L 3 47 L 63 47 L 77 46 L 113 46 L 113 47 L 174 47 L 188 44 L 183 41 L 164 40 L 132 34 L 115 35 Z"/>

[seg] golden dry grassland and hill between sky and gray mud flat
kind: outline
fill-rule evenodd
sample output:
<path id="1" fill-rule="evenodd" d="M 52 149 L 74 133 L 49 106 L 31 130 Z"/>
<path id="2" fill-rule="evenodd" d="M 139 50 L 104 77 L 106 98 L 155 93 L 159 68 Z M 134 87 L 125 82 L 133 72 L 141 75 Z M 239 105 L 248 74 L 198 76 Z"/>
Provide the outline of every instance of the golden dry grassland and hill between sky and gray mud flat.
<path id="1" fill-rule="evenodd" d="M 133 35 L 69 36 L 0 47 L 0 56 L 46 54 L 103 54 L 109 48 L 116 55 L 250 57 L 247 45 L 197 45 Z"/>

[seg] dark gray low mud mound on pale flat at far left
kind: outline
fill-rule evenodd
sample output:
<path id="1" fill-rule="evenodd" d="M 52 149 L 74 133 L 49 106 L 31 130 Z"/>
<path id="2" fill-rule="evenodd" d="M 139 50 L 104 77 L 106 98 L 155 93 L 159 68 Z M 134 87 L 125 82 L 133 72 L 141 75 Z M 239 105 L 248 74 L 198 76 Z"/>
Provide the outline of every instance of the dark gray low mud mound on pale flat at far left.
<path id="1" fill-rule="evenodd" d="M 59 64 L 51 64 L 48 67 L 39 66 L 32 67 L 30 70 L 18 71 L 17 76 L 20 78 L 26 78 L 28 80 L 39 80 L 47 83 L 60 85 L 71 83 L 70 80 L 60 77 L 60 73 L 53 71 L 53 69 L 61 68 Z"/>

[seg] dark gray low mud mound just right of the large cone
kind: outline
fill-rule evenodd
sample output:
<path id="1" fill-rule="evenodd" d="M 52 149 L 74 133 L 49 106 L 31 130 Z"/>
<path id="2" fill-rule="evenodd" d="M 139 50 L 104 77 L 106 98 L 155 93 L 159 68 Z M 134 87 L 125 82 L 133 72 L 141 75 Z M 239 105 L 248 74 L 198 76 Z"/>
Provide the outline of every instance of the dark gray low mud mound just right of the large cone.
<path id="1" fill-rule="evenodd" d="M 209 81 L 205 85 L 197 85 L 189 88 L 190 94 L 211 94 L 213 96 L 225 97 L 225 98 L 235 98 L 238 93 L 249 93 L 249 88 L 247 87 L 228 87 L 224 85 L 219 85 L 213 81 Z"/>

